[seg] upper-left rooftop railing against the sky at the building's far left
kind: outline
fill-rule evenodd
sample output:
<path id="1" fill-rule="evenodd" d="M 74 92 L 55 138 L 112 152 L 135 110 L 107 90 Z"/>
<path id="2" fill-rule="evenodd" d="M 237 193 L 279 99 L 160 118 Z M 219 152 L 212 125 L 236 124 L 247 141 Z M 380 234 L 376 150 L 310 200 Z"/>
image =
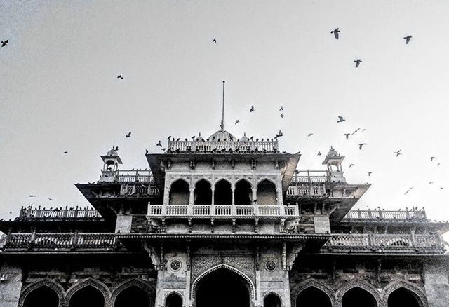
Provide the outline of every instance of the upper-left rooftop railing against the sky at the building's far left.
<path id="1" fill-rule="evenodd" d="M 102 219 L 97 210 L 89 207 L 65 207 L 65 208 L 37 208 L 22 207 L 19 220 L 32 219 Z"/>

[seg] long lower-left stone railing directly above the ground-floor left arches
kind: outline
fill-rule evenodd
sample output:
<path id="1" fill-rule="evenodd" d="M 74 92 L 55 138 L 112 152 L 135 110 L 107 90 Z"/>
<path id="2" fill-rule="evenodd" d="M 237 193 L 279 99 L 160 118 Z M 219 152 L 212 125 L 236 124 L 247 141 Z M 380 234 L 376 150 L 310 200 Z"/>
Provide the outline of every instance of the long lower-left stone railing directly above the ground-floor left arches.
<path id="1" fill-rule="evenodd" d="M 114 233 L 8 233 L 4 252 L 14 250 L 117 250 L 122 247 Z"/>

